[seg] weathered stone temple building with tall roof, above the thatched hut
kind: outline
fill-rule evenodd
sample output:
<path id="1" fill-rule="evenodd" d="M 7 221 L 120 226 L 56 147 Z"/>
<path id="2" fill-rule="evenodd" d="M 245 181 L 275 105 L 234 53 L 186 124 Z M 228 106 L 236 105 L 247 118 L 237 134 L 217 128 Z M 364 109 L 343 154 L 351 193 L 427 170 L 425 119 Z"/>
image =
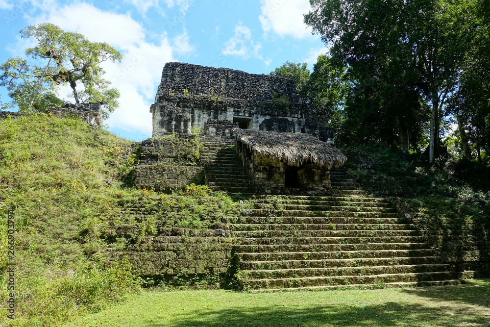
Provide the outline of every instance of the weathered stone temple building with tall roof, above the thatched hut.
<path id="1" fill-rule="evenodd" d="M 301 101 L 294 81 L 227 68 L 171 62 L 163 69 L 153 113 L 153 137 L 193 132 L 229 136 L 233 127 L 308 133 L 333 143 Z"/>

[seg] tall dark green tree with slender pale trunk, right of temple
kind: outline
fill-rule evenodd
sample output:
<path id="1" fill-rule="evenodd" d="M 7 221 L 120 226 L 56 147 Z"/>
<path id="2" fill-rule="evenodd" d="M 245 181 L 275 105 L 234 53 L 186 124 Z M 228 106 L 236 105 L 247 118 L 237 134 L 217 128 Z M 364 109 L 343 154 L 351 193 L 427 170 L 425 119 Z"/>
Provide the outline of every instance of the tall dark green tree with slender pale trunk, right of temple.
<path id="1" fill-rule="evenodd" d="M 359 83 L 358 89 L 364 84 L 384 90 L 381 94 L 385 96 L 378 102 L 409 92 L 411 103 L 417 103 L 413 94 L 416 91 L 430 105 L 429 157 L 433 162 L 439 154 L 442 109 L 455 90 L 462 50 L 471 37 L 461 33 L 468 25 L 464 9 L 444 0 L 310 0 L 310 3 L 312 11 L 305 15 L 305 23 L 325 43 L 333 45 L 334 59 L 349 67 Z M 410 82 L 408 90 L 403 90 L 405 81 Z M 390 88 L 393 92 L 385 93 Z M 390 93 L 392 96 L 387 97 Z M 397 102 L 386 108 L 396 111 L 396 105 L 404 103 Z M 416 112 L 417 109 L 408 110 L 405 116 L 413 119 Z M 408 125 L 399 126 L 400 135 Z"/>

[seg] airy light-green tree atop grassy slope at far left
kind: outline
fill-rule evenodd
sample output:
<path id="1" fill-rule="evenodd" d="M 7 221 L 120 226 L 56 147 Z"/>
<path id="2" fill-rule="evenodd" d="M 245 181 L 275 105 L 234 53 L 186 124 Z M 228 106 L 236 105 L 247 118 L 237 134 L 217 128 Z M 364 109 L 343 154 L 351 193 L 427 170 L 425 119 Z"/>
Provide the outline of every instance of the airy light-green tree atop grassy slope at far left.
<path id="1" fill-rule="evenodd" d="M 34 39 L 36 46 L 25 50 L 30 61 L 10 58 L 0 66 L 0 85 L 8 89 L 21 111 L 58 105 L 57 95 L 64 85 L 71 87 L 75 103 L 102 102 L 105 116 L 118 107 L 119 91 L 109 88 L 100 64 L 120 62 L 119 51 L 52 24 L 27 26 L 20 33 Z"/>

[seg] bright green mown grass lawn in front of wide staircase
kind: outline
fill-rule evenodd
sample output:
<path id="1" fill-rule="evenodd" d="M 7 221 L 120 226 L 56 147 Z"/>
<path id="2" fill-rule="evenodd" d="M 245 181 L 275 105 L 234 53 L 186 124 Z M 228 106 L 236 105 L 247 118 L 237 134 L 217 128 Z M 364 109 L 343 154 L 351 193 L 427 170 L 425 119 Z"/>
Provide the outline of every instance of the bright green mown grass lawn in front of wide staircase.
<path id="1" fill-rule="evenodd" d="M 64 327 L 490 326 L 490 279 L 381 290 L 237 293 L 146 290 Z"/>

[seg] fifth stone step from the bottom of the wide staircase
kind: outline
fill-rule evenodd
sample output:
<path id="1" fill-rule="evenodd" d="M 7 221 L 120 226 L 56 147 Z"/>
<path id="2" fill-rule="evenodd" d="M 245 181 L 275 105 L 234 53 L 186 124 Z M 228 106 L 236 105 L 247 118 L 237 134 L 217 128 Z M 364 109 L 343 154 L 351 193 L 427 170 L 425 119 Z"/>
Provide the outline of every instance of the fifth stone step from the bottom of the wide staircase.
<path id="1" fill-rule="evenodd" d="M 237 245 L 236 253 L 419 250 L 420 247 L 428 247 L 426 243 L 423 243 L 424 240 L 417 236 L 346 237 L 343 240 L 338 240 L 335 237 L 320 237 L 319 240 L 323 243 L 314 246 L 311 244 Z M 246 239 L 243 241 L 245 242 Z"/>

